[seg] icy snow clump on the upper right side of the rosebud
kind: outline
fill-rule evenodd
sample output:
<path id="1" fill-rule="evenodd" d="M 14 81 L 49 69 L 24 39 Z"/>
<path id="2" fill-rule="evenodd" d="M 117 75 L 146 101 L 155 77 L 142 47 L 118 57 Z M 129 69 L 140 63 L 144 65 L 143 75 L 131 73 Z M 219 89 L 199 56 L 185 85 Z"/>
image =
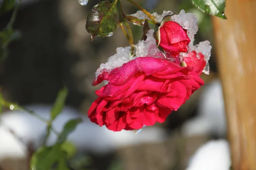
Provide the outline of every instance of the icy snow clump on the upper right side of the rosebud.
<path id="1" fill-rule="evenodd" d="M 172 21 L 180 24 L 182 28 L 187 30 L 188 37 L 190 40 L 194 38 L 194 35 L 198 31 L 198 19 L 194 14 L 186 13 L 183 9 L 180 14 L 173 15 Z"/>

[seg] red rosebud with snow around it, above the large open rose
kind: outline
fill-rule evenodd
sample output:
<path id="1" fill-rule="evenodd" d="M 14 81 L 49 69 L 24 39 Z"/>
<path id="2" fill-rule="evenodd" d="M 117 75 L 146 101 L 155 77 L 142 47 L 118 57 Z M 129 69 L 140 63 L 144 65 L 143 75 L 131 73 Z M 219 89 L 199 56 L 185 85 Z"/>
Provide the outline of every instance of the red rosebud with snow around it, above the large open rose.
<path id="1" fill-rule="evenodd" d="M 180 52 L 187 52 L 190 39 L 178 23 L 167 21 L 160 27 L 160 47 L 176 57 Z"/>

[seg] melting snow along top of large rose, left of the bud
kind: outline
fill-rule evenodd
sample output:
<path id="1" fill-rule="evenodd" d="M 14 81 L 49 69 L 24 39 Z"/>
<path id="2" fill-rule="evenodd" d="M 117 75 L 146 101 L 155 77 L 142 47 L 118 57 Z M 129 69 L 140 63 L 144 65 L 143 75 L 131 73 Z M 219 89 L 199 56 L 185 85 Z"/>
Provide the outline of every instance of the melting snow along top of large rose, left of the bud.
<path id="1" fill-rule="evenodd" d="M 131 55 L 131 46 L 116 48 L 116 54 L 108 58 L 108 62 L 101 64 L 96 71 L 96 77 L 102 72 L 110 72 L 114 68 L 121 67 L 126 62 L 136 59 L 137 57 L 155 57 L 163 58 L 163 53 L 157 48 L 156 40 L 153 36 L 154 29 L 148 30 L 147 39 L 139 41 L 135 47 L 135 55 Z"/>

